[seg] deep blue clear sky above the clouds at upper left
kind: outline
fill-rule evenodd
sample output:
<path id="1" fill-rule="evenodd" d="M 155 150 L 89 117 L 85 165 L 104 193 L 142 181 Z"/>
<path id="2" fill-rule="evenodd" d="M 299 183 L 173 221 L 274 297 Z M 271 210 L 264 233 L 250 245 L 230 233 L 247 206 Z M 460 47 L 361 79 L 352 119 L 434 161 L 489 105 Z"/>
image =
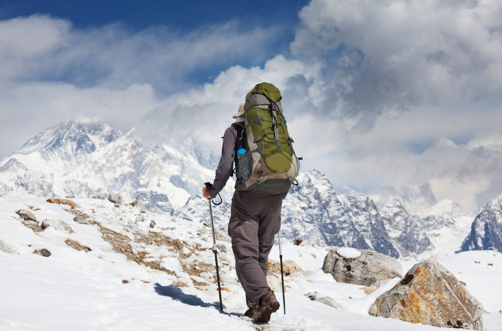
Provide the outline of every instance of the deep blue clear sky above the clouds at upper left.
<path id="1" fill-rule="evenodd" d="M 294 28 L 299 23 L 298 12 L 307 4 L 308 1 L 305 0 L 278 0 L 265 7 L 244 1 L 3 1 L 0 5 L 0 19 L 47 14 L 68 20 L 78 29 L 119 24 L 131 33 L 163 27 L 176 35 L 209 30 L 222 23 L 232 23 L 233 28 L 241 32 L 256 26 L 273 31 L 268 36 L 270 40 L 266 48 L 262 48 L 258 54 L 222 58 L 211 66 L 198 67 L 184 73 L 183 78 L 187 83 L 203 84 L 231 66 L 263 66 L 276 54 L 288 55 L 289 43 L 294 39 Z M 89 83 L 87 79 L 78 81 L 71 75 L 45 78 L 62 79 L 76 84 Z M 90 80 L 95 78 L 91 77 Z"/>

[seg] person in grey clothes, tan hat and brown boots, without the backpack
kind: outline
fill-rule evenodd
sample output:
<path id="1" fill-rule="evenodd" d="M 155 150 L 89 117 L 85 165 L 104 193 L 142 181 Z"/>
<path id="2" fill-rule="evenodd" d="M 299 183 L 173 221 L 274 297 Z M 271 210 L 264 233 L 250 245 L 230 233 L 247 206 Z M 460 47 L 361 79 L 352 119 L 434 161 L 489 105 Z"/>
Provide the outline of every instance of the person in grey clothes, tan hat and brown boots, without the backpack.
<path id="1" fill-rule="evenodd" d="M 235 115 L 235 123 L 225 130 L 221 158 L 214 182 L 203 187 L 206 199 L 215 198 L 232 175 L 232 162 L 236 160 L 239 139 L 244 129 L 244 103 Z M 228 235 L 232 239 L 237 277 L 246 294 L 249 309 L 244 315 L 254 322 L 270 320 L 270 315 L 279 309 L 279 301 L 267 283 L 268 256 L 274 245 L 274 237 L 281 228 L 281 194 L 258 194 L 236 183 L 232 198 Z"/>

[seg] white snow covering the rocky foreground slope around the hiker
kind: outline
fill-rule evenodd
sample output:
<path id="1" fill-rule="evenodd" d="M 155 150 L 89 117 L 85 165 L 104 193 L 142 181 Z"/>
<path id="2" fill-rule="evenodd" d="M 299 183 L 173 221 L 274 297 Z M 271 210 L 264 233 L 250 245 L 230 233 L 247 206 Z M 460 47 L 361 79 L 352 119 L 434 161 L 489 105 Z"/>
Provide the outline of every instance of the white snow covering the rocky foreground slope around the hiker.
<path id="1" fill-rule="evenodd" d="M 212 238 L 200 221 L 172 217 L 164 212 L 143 213 L 145 221 L 135 222 L 139 210 L 129 205 L 114 207 L 99 199 L 72 199 L 86 213 L 92 225 L 73 221 L 69 207 L 45 202 L 34 195 L 9 193 L 0 197 L 0 241 L 9 243 L 19 254 L 0 250 L 0 329 L 2 330 L 438 330 L 437 327 L 412 324 L 396 319 L 372 317 L 367 310 L 372 302 L 390 289 L 399 279 L 381 286 L 366 295 L 362 286 L 336 282 L 322 272 L 324 245 L 293 245 L 283 242 L 283 259 L 293 260 L 303 268 L 306 277 L 285 277 L 288 290 L 286 315 L 281 308 L 266 325 L 254 325 L 242 313 L 246 310 L 244 292 L 235 279 L 230 243 L 219 240 L 226 253 L 218 252 L 224 314 L 219 313 L 218 291 L 214 282 L 214 268 L 199 276 L 188 274 L 182 263 L 213 266 Z M 206 201 L 200 199 L 200 206 Z M 47 228 L 35 233 L 21 222 L 16 211 L 30 210 L 37 220 L 59 219 L 71 226 L 68 234 Z M 221 206 L 214 207 L 217 209 Z M 36 210 L 38 209 L 38 210 Z M 91 212 L 94 209 L 94 213 Z M 73 211 L 75 211 L 73 210 Z M 154 229 L 149 227 L 154 220 Z M 110 229 L 123 244 L 133 247 L 136 255 L 159 263 L 173 274 L 138 264 L 126 258 L 119 249 L 104 240 L 100 230 Z M 140 241 L 142 235 L 163 235 L 187 243 L 183 249 L 154 242 L 153 237 Z M 143 237 L 142 237 L 143 238 Z M 78 251 L 69 247 L 71 239 L 91 249 Z M 192 247 L 199 251 L 192 253 Z M 46 248 L 52 255 L 32 254 Z M 329 249 L 329 248 L 328 248 Z M 117 251 L 118 250 L 118 251 Z M 338 249 L 340 250 L 340 248 Z M 343 248 L 344 255 L 356 251 Z M 136 256 L 134 255 L 134 256 Z M 278 259 L 279 248 L 273 247 L 270 258 Z M 478 261 L 479 263 L 475 263 Z M 487 331 L 502 330 L 502 254 L 493 251 L 470 251 L 455 254 L 440 261 L 484 305 Z M 416 261 L 401 261 L 408 270 Z M 194 285 L 192 280 L 208 282 L 208 286 Z M 177 287 L 175 282 L 187 286 Z M 334 309 L 319 301 L 311 301 L 308 292 L 318 297 L 329 296 L 343 309 Z"/>

